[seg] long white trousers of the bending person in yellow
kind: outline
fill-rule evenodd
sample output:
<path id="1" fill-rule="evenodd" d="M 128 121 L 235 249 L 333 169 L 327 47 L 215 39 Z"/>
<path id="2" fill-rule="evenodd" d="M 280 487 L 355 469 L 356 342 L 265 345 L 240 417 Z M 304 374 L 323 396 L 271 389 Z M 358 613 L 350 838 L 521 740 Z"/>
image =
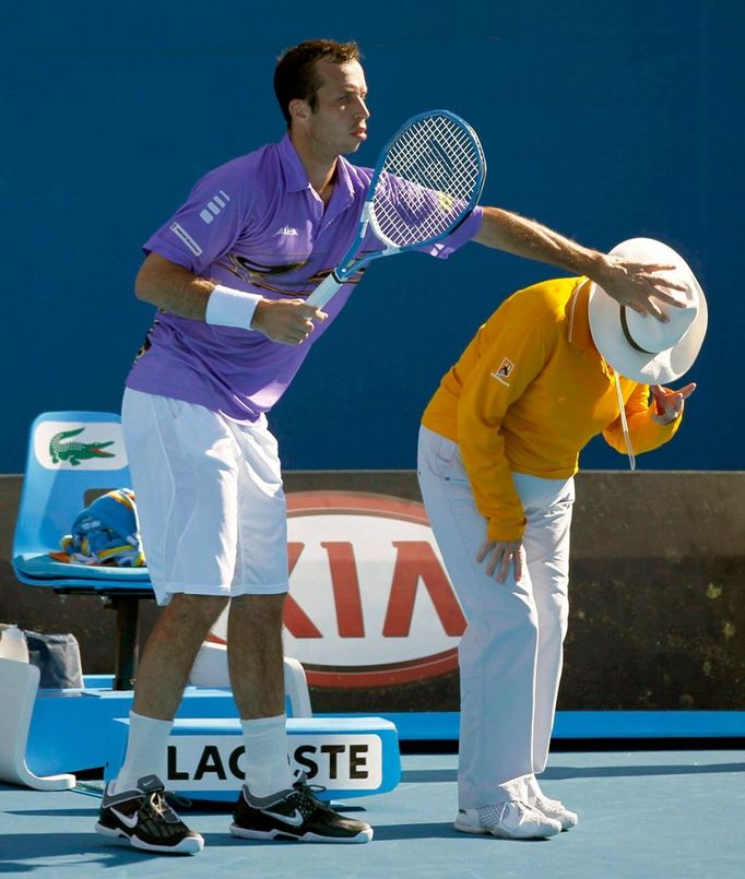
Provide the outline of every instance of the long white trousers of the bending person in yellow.
<path id="1" fill-rule="evenodd" d="M 459 807 L 527 799 L 548 758 L 569 613 L 573 479 L 515 473 L 527 519 L 523 575 L 476 562 L 486 539 L 458 446 L 423 427 L 422 497 L 468 627 L 461 676 Z"/>

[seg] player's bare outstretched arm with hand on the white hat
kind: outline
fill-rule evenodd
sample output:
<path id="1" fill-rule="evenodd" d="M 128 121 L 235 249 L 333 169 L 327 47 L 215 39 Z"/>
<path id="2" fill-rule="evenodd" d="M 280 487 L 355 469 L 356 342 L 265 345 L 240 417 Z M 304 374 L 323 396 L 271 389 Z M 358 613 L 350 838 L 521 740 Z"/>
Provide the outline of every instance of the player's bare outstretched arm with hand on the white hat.
<path id="1" fill-rule="evenodd" d="M 683 289 L 683 286 L 659 274 L 673 269 L 672 265 L 612 257 L 582 247 L 510 211 L 499 207 L 484 207 L 483 211 L 484 222 L 474 238 L 478 243 L 584 275 L 622 305 L 635 311 L 649 312 L 658 319 L 664 320 L 658 301 L 682 305 L 675 297 L 675 290 Z"/>

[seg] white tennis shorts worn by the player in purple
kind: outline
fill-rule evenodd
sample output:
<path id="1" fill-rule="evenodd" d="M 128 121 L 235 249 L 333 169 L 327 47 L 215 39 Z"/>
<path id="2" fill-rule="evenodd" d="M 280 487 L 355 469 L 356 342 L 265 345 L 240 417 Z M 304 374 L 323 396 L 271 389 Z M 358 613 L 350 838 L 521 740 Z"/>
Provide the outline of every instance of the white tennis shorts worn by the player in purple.
<path id="1" fill-rule="evenodd" d="M 128 388 L 121 420 L 158 604 L 286 592 L 286 503 L 267 419 L 238 424 Z"/>

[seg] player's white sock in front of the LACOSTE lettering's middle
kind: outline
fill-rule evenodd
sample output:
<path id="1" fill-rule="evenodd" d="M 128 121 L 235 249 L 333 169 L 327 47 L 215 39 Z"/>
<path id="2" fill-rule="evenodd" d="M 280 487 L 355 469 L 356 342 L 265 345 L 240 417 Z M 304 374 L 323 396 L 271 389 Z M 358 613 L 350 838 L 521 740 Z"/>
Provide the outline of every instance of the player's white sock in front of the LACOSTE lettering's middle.
<path id="1" fill-rule="evenodd" d="M 256 797 L 268 797 L 293 786 L 285 714 L 240 721 L 246 743 L 246 786 Z"/>

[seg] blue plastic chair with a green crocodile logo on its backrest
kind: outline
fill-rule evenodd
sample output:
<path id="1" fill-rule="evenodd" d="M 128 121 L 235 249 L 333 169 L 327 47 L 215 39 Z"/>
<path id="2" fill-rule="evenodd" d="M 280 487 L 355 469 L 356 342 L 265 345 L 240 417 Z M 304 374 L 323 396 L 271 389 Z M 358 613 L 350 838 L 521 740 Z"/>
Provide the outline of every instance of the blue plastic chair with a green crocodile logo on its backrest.
<path id="1" fill-rule="evenodd" d="M 128 689 L 137 664 L 139 599 L 152 597 L 146 568 L 67 565 L 50 551 L 98 495 L 131 485 L 118 415 L 46 412 L 32 425 L 13 538 L 22 583 L 61 594 L 97 594 L 117 610 L 116 689 Z"/>

